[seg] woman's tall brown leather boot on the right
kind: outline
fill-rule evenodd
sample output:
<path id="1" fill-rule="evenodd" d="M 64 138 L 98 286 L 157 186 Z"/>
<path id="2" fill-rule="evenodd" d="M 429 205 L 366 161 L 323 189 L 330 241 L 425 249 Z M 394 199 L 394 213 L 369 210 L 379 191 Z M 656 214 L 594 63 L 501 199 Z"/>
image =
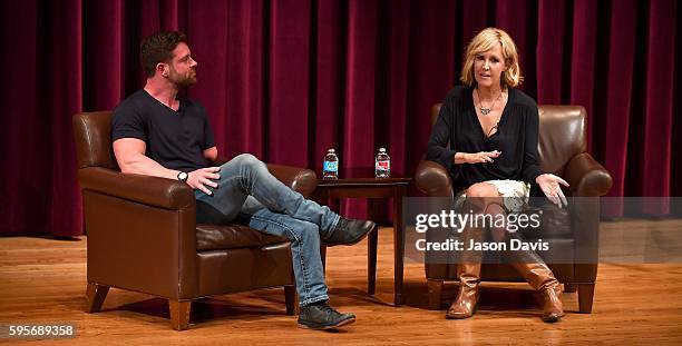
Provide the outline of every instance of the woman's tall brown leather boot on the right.
<path id="1" fill-rule="evenodd" d="M 547 323 L 559 320 L 564 316 L 562 304 L 562 288 L 554 277 L 552 269 L 535 251 L 508 251 L 512 266 L 530 284 L 535 290 L 543 295 L 543 316 Z"/>

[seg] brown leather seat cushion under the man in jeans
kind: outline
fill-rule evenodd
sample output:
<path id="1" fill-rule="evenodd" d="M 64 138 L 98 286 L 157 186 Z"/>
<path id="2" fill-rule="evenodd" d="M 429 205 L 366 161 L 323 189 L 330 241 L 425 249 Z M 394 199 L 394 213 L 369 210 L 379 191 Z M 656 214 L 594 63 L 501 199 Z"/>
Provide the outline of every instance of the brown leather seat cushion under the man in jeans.
<path id="1" fill-rule="evenodd" d="M 286 238 L 271 236 L 237 224 L 196 225 L 196 249 L 198 251 L 260 247 L 286 241 L 289 241 Z"/>

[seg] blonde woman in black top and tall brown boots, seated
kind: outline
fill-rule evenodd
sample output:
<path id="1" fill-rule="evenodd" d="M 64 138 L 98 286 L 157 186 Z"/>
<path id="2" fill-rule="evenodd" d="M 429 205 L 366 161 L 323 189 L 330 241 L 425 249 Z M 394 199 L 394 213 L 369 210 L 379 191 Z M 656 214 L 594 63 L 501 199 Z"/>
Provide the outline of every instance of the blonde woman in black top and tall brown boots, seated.
<path id="1" fill-rule="evenodd" d="M 442 164 L 457 189 L 456 208 L 499 216 L 520 211 L 529 184 L 559 207 L 566 204 L 562 178 L 544 174 L 538 164 L 538 110 L 533 99 L 515 89 L 523 77 L 516 46 L 503 30 L 488 28 L 469 43 L 461 87 L 447 95 L 429 139 L 427 159 Z M 460 190 L 461 189 L 461 190 Z M 474 197 L 474 198 L 472 198 Z M 495 241 L 505 241 L 504 227 L 490 227 Z M 462 231 L 465 247 L 485 239 L 484 227 Z M 559 283 L 534 251 L 506 251 L 516 270 L 543 294 L 543 320 L 563 315 Z M 457 267 L 459 295 L 447 318 L 474 315 L 480 281 L 480 251 L 464 251 Z"/>

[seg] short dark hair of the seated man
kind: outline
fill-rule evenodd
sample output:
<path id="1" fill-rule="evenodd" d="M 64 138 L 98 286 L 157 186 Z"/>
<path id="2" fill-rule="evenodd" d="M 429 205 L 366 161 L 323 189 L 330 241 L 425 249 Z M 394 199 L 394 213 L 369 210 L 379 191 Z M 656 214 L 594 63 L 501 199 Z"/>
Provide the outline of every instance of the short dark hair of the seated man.
<path id="1" fill-rule="evenodd" d="M 173 50 L 179 42 L 187 43 L 187 36 L 181 31 L 156 32 L 142 41 L 139 61 L 148 77 L 156 72 L 156 65 L 173 60 Z"/>

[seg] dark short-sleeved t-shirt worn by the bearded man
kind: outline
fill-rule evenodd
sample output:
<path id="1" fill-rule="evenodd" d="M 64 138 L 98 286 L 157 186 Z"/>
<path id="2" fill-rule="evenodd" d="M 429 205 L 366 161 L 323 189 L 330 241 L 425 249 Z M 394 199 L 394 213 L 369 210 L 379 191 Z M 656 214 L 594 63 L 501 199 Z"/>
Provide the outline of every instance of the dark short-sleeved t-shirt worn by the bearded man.
<path id="1" fill-rule="evenodd" d="M 144 89 L 130 95 L 114 110 L 111 141 L 144 140 L 145 155 L 168 169 L 206 167 L 203 151 L 215 146 L 206 110 L 187 97 L 178 99 L 175 111 Z"/>

